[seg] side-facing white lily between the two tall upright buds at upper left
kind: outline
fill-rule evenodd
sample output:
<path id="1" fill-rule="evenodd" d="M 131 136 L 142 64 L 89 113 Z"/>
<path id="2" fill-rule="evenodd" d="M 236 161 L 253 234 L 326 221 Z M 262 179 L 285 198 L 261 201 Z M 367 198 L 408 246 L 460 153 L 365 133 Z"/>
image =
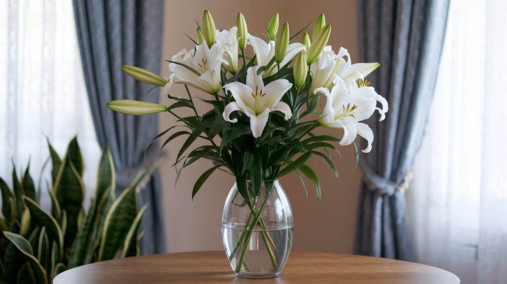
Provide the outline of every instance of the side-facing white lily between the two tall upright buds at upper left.
<path id="1" fill-rule="evenodd" d="M 216 43 L 215 45 L 222 46 L 223 59 L 227 62 L 225 68 L 229 73 L 236 74 L 238 71 L 238 37 L 237 27 L 232 27 L 230 30 L 216 30 Z"/>

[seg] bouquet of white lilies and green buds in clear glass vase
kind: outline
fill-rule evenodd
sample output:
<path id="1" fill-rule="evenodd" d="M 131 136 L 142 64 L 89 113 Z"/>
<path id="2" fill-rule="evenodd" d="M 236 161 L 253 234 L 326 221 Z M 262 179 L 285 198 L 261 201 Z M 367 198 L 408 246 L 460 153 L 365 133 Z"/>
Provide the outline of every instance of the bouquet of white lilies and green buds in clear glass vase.
<path id="1" fill-rule="evenodd" d="M 368 142 L 363 152 L 369 152 L 373 132 L 360 121 L 375 110 L 382 120 L 387 111 L 386 100 L 365 79 L 379 64 L 351 64 L 346 49 L 335 53 L 327 46 L 331 26 L 325 24 L 324 15 L 314 24 L 311 40 L 305 32 L 309 26 L 291 35 L 288 23 L 278 30 L 275 14 L 267 27 L 266 41 L 248 33 L 241 13 L 236 26 L 218 30 L 211 14 L 204 11 L 197 37 L 191 38 L 193 48 L 172 57 L 168 77 L 122 66 L 133 78 L 163 87 L 169 106 L 132 100 L 107 103 L 126 114 L 169 112 L 177 118 L 176 125 L 154 138 L 169 135 L 165 146 L 186 136 L 174 163 L 177 177 L 199 159 L 213 165 L 197 179 L 192 198 L 216 170 L 234 175 L 236 183 L 224 207 L 222 235 L 226 255 L 238 276 L 274 277 L 285 265 L 294 224 L 278 178 L 294 172 L 304 185 L 302 175 L 306 176 L 315 183 L 320 200 L 319 180 L 305 162 L 317 155 L 338 177 L 329 149 L 354 144 L 357 154 L 355 138 L 359 135 Z M 296 43 L 301 33 L 301 43 Z M 173 96 L 173 84 L 185 85 L 186 97 Z M 191 89 L 209 96 L 193 96 Z M 206 103 L 208 111 L 199 113 L 195 99 Z M 319 101 L 324 100 L 322 107 Z M 194 115 L 178 115 L 180 108 L 189 108 Z M 178 127 L 186 130 L 175 131 Z M 342 129 L 343 136 L 316 135 L 314 130 L 319 127 Z M 206 145 L 189 150 L 198 139 Z"/>

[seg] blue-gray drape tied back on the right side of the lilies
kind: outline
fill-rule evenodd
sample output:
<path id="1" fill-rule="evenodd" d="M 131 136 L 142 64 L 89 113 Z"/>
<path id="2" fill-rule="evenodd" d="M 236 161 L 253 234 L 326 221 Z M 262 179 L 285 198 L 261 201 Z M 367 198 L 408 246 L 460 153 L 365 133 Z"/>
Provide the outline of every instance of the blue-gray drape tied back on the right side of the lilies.
<path id="1" fill-rule="evenodd" d="M 361 156 L 357 254 L 411 260 L 404 190 L 420 147 L 436 83 L 449 0 L 360 0 L 361 62 L 379 62 L 368 76 L 389 103 L 372 118 L 373 149 Z"/>

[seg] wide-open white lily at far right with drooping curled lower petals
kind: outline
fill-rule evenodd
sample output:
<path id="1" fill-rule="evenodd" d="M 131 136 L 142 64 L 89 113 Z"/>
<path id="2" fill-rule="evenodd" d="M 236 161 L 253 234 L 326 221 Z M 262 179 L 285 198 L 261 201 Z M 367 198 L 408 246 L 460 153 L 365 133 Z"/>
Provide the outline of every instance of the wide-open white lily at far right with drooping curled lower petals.
<path id="1" fill-rule="evenodd" d="M 315 94 L 323 93 L 327 97 L 318 123 L 327 128 L 343 129 L 342 146 L 351 144 L 357 135 L 365 138 L 368 141 L 368 147 L 363 150 L 365 153 L 372 149 L 373 132 L 367 124 L 359 121 L 368 119 L 375 112 L 377 102 L 370 91 L 358 88 L 349 93 L 341 78 L 336 78 L 331 92 L 322 87 L 315 90 Z"/>

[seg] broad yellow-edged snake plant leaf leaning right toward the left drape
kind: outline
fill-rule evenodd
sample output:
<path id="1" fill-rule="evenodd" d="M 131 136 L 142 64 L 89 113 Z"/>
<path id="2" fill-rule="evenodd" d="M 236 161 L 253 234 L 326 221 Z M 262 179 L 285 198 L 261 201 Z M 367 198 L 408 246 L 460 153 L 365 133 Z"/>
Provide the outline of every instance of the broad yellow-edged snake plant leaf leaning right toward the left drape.
<path id="1" fill-rule="evenodd" d="M 134 183 L 138 183 L 134 181 Z M 137 215 L 136 186 L 126 188 L 107 213 L 98 251 L 98 261 L 115 258 Z"/>

